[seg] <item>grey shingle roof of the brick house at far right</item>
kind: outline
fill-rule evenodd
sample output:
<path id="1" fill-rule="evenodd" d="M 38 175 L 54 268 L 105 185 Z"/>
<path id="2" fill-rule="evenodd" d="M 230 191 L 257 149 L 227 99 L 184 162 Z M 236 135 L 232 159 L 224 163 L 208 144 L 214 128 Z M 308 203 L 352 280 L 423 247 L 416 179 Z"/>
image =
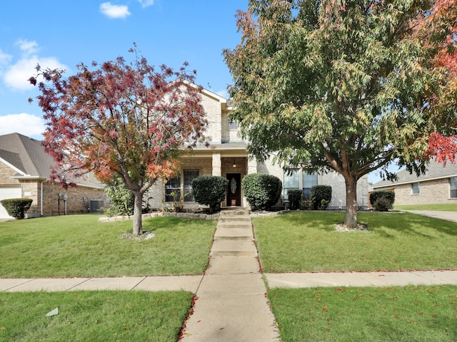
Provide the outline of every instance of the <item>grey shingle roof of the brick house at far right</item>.
<path id="1" fill-rule="evenodd" d="M 390 180 L 381 180 L 373 185 L 373 188 L 377 187 L 388 187 L 393 185 L 401 185 L 407 183 L 423 182 L 426 180 L 436 180 L 440 178 L 448 177 L 457 177 L 457 163 L 453 164 L 451 162 L 446 163 L 444 167 L 442 162 L 436 162 L 431 160 L 427 166 L 427 171 L 425 175 L 419 177 L 416 176 L 416 173 L 409 173 L 407 170 L 401 170 L 397 174 L 398 180 L 392 182 Z"/>

